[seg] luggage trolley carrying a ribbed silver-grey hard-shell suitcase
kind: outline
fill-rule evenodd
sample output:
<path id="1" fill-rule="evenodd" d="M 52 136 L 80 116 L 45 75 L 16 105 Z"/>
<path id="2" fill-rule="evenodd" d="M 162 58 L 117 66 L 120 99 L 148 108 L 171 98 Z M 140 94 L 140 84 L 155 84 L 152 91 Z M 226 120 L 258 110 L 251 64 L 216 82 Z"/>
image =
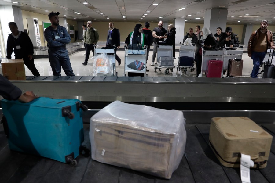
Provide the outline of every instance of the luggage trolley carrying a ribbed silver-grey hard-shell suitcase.
<path id="1" fill-rule="evenodd" d="M 169 74 L 169 69 L 173 72 L 174 67 L 173 45 L 157 45 L 157 62 L 155 63 L 155 72 L 157 69 L 161 71 L 161 68 L 166 68 L 164 74 L 167 75 Z"/>

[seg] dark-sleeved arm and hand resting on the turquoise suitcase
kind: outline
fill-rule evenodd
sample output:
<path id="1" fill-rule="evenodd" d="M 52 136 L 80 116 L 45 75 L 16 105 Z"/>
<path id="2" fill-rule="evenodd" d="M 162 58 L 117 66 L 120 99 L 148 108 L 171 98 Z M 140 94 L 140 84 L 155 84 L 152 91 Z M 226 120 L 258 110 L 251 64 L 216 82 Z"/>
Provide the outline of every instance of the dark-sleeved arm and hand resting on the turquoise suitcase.
<path id="1" fill-rule="evenodd" d="M 19 100 L 20 102 L 31 102 L 39 96 L 32 91 L 22 94 L 22 91 L 14 86 L 9 80 L 0 74 L 0 95 L 7 100 Z"/>

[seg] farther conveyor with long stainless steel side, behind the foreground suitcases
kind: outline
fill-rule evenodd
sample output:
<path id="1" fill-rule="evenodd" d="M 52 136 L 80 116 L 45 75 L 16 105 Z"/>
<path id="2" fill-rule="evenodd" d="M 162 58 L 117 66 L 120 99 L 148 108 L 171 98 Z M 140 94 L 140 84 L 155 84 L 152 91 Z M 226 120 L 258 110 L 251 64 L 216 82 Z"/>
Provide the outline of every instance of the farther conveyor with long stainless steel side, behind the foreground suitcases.
<path id="1" fill-rule="evenodd" d="M 275 80 L 195 77 L 40 76 L 12 81 L 21 90 L 93 105 L 120 100 L 180 110 L 274 110 Z"/>

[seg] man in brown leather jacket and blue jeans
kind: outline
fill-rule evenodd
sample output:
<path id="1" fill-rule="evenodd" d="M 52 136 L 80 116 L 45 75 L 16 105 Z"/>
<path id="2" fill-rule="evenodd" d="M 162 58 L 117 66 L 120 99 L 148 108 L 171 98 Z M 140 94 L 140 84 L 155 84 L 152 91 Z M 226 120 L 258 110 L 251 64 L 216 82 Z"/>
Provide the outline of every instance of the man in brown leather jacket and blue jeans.
<path id="1" fill-rule="evenodd" d="M 260 28 L 251 34 L 248 41 L 248 56 L 253 60 L 251 78 L 258 78 L 259 67 L 266 56 L 268 46 L 275 48 L 272 32 L 267 30 L 267 27 L 268 21 L 262 20 Z"/>

